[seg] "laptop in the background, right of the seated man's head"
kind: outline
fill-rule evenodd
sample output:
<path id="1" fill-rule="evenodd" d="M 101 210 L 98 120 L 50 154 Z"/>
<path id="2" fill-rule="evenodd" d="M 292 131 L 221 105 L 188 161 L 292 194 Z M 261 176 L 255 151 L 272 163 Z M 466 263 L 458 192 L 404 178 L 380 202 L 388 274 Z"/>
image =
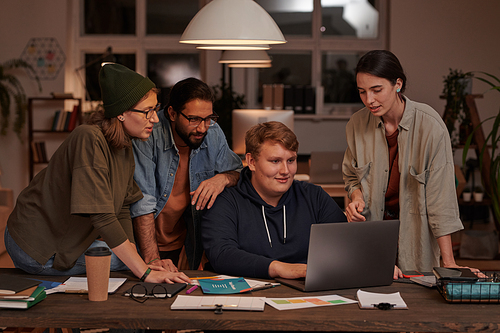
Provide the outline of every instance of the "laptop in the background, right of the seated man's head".
<path id="1" fill-rule="evenodd" d="M 311 152 L 309 181 L 314 184 L 344 184 L 344 179 L 342 177 L 343 160 L 344 152 Z"/>

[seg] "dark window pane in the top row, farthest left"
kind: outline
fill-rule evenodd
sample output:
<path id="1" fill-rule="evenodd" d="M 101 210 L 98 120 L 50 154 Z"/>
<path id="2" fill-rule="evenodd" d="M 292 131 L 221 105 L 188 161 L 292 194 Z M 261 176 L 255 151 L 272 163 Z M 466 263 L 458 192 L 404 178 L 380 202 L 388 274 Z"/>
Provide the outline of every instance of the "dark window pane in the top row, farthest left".
<path id="1" fill-rule="evenodd" d="M 135 0 L 85 0 L 86 35 L 134 35 Z"/>

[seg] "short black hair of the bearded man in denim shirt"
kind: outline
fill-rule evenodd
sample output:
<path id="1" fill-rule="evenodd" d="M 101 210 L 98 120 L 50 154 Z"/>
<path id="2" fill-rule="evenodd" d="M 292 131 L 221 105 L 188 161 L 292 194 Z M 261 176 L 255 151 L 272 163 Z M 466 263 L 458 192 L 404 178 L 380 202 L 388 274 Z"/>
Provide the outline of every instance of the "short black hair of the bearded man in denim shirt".
<path id="1" fill-rule="evenodd" d="M 177 82 L 168 95 L 166 109 L 172 109 L 179 113 L 186 107 L 186 103 L 199 99 L 206 102 L 214 102 L 214 94 L 210 87 L 203 81 L 190 77 Z"/>

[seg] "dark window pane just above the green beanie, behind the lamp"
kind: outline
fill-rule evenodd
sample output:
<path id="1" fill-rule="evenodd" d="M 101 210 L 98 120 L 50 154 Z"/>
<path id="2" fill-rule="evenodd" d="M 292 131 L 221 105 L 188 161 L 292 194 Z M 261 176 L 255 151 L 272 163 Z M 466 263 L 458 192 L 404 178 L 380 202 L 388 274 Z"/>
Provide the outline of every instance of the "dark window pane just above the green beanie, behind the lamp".
<path id="1" fill-rule="evenodd" d="M 135 54 L 111 54 L 103 58 L 102 54 L 85 54 L 85 86 L 87 89 L 86 100 L 100 101 L 101 88 L 99 87 L 99 70 L 101 63 L 111 61 L 122 64 L 131 70 L 135 70 Z M 78 73 L 80 75 L 80 73 Z"/>

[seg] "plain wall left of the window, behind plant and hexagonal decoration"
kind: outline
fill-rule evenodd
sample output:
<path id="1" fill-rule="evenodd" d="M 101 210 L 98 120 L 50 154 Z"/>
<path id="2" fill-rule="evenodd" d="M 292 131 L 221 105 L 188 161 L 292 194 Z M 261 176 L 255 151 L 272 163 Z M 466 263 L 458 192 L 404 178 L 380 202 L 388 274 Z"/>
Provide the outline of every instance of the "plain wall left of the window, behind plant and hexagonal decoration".
<path id="1" fill-rule="evenodd" d="M 30 38 L 53 37 L 63 50 L 66 46 L 66 0 L 2 0 L 0 10 L 0 62 L 19 58 Z M 44 80 L 42 92 L 24 69 L 12 72 L 20 79 L 28 97 L 49 96 L 64 91 L 64 70 L 55 80 Z M 11 115 L 14 113 L 11 110 Z M 11 118 L 11 123 L 14 118 Z M 9 130 L 0 136 L 0 184 L 14 190 L 14 197 L 28 185 L 28 133 L 24 143 Z"/>

